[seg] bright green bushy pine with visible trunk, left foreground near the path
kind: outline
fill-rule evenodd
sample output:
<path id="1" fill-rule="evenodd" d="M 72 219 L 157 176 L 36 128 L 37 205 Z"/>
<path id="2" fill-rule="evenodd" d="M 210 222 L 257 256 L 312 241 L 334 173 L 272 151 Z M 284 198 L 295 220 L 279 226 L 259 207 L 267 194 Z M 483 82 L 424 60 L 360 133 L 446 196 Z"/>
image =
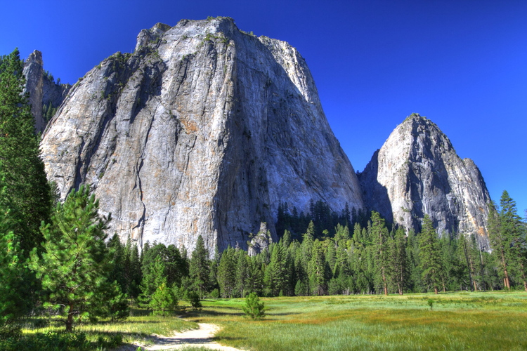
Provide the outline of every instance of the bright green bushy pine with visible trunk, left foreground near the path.
<path id="1" fill-rule="evenodd" d="M 44 306 L 65 317 L 66 331 L 74 319 L 96 314 L 98 303 L 108 303 L 101 291 L 108 291 L 111 253 L 105 245 L 110 216 L 98 213 L 98 200 L 82 185 L 72 190 L 63 204 L 57 204 L 51 223 L 42 225 L 44 236 L 41 257 L 35 248 L 30 267 L 48 292 Z"/>

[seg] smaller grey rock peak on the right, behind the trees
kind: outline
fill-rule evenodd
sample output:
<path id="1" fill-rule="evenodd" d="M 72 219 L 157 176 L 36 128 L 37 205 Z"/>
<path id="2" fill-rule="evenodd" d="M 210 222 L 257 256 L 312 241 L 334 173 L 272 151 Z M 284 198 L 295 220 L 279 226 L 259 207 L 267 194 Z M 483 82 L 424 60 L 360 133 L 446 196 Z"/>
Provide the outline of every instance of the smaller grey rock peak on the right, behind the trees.
<path id="1" fill-rule="evenodd" d="M 359 178 L 367 207 L 390 222 L 419 231 L 428 214 L 439 234 L 476 234 L 488 249 L 490 197 L 481 173 L 429 119 L 405 119 Z"/>

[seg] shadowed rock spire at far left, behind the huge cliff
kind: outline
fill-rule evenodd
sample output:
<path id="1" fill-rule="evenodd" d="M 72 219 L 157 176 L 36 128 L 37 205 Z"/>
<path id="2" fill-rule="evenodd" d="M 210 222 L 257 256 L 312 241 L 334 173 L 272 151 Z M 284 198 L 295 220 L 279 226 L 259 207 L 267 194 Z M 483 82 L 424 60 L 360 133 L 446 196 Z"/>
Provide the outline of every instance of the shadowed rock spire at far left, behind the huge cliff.
<path id="1" fill-rule="evenodd" d="M 35 130 L 43 132 L 47 123 L 42 113 L 44 105 L 56 109 L 65 99 L 71 86 L 69 84 L 56 84 L 51 77 L 44 73 L 42 53 L 37 50 L 33 51 L 25 60 L 23 74 L 26 79 L 24 91 L 30 94 Z"/>

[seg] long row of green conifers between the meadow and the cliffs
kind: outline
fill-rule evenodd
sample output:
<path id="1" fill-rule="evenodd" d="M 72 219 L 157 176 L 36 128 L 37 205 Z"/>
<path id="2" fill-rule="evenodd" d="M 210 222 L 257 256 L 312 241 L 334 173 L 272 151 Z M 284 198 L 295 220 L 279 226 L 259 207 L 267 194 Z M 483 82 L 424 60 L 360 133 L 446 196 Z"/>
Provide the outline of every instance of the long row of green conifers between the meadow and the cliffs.
<path id="1" fill-rule="evenodd" d="M 474 235 L 439 237 L 428 216 L 421 232 L 406 233 L 403 227 L 389 230 L 379 213 L 372 211 L 364 227 L 351 223 L 350 232 L 348 225 L 337 223 L 332 232 L 323 230 L 330 233 L 326 237 L 317 236 L 311 220 L 300 239 L 285 230 L 278 242 L 254 256 L 230 246 L 212 255 L 202 237 L 190 254 L 174 245 L 147 243 L 143 255 L 134 253 L 135 263 L 121 260 L 118 275 L 135 277 L 123 286 L 131 286 L 127 292 L 140 301 L 148 300 L 159 282 L 172 286 L 176 296 L 195 291 L 202 298 L 240 298 L 249 293 L 271 297 L 525 289 L 525 224 L 519 216 L 512 216 L 513 204 L 504 192 L 501 209 L 491 206 L 492 253 L 481 250 Z M 130 245 L 113 240 L 117 247 Z M 126 250 L 130 255 L 132 251 Z M 141 269 L 129 275 L 127 267 Z"/>

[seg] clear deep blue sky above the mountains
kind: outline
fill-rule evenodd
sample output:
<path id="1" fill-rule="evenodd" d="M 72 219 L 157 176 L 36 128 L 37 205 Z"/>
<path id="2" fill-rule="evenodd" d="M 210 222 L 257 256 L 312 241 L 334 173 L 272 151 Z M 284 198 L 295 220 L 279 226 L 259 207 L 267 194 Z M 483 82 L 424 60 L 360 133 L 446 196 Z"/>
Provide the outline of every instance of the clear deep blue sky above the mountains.
<path id="1" fill-rule="evenodd" d="M 342 147 L 362 171 L 417 112 L 474 159 L 490 196 L 527 209 L 527 1 L 4 1 L 0 54 L 42 51 L 74 83 L 131 52 L 156 22 L 228 16 L 288 41 L 313 73 Z"/>

